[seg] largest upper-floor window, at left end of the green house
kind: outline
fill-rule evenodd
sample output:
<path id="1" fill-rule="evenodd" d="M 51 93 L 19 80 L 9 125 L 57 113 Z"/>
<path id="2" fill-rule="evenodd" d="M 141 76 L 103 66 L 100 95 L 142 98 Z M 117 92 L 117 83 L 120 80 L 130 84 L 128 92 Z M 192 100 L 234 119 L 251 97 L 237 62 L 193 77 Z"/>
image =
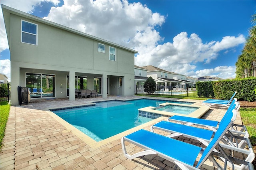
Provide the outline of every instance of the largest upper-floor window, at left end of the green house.
<path id="1" fill-rule="evenodd" d="M 21 42 L 37 45 L 37 24 L 21 20 Z"/>

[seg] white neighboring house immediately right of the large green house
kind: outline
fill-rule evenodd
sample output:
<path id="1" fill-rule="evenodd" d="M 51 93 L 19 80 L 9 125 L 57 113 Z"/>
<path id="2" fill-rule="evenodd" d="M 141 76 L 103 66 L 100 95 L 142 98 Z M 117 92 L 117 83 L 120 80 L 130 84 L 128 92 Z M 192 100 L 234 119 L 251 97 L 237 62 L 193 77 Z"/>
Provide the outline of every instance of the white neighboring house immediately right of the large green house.
<path id="1" fill-rule="evenodd" d="M 147 79 L 147 69 L 134 65 L 134 84 L 137 91 L 144 91 L 144 84 Z"/>

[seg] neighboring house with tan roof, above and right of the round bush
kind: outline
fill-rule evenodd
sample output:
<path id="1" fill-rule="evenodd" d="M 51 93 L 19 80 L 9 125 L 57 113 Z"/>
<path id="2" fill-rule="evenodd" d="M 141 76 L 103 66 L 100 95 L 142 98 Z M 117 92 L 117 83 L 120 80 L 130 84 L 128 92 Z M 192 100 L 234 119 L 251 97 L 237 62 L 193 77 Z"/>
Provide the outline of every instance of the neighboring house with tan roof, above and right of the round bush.
<path id="1" fill-rule="evenodd" d="M 158 67 L 154 67 L 153 65 L 147 65 L 143 67 L 144 69 L 147 69 L 147 77 L 152 77 L 155 81 L 158 87 L 161 89 L 169 89 L 172 88 L 181 88 L 182 87 L 182 81 L 178 79 L 174 79 L 174 75 L 177 78 L 177 74 L 174 72 L 166 71 L 164 69 L 160 69 Z M 186 77 L 186 76 L 185 76 Z"/>

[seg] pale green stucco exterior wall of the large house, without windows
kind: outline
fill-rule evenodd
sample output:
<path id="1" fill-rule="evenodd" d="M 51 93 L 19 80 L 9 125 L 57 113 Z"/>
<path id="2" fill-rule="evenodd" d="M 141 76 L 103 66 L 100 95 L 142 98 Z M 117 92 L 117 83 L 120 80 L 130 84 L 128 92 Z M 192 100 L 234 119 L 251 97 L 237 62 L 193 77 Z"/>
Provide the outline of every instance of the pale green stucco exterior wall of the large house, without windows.
<path id="1" fill-rule="evenodd" d="M 93 77 L 102 77 L 103 98 L 107 97 L 107 77 L 113 85 L 109 84 L 110 95 L 134 95 L 134 53 L 137 51 L 4 5 L 2 9 L 11 54 L 12 105 L 18 104 L 17 87 L 26 86 L 26 73 L 55 74 L 56 98 L 67 97 L 67 75 L 86 76 L 88 89 L 93 89 Z M 38 24 L 38 45 L 21 42 L 21 20 Z M 105 53 L 98 52 L 98 43 L 105 45 Z M 109 60 L 110 46 L 116 48 L 116 61 Z M 123 77 L 122 93 L 114 88 L 118 87 L 118 77 Z M 74 78 L 69 80 L 69 85 L 74 86 Z M 74 91 L 70 90 L 69 100 L 75 100 Z"/>

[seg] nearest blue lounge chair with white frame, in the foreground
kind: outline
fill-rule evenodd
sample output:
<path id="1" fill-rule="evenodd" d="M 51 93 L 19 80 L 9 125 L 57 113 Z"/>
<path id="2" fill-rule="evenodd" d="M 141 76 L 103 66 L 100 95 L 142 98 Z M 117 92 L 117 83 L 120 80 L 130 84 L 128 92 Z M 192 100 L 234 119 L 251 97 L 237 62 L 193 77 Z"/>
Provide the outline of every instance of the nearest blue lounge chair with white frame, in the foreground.
<path id="1" fill-rule="evenodd" d="M 122 150 L 124 156 L 130 160 L 138 156 L 157 154 L 158 156 L 175 163 L 182 170 L 198 169 L 202 166 L 207 158 L 209 158 L 217 168 L 226 169 L 228 162 L 230 162 L 231 166 L 234 166 L 233 162 L 235 161 L 235 158 L 228 156 L 225 152 L 221 153 L 221 156 L 224 157 L 224 167 L 221 167 L 221 165 L 218 164 L 218 162 L 214 158 L 215 154 L 219 154 L 220 156 L 220 153 L 214 152 L 213 150 L 215 146 L 221 148 L 218 142 L 222 139 L 222 136 L 226 133 L 226 131 L 232 125 L 235 119 L 236 111 L 230 109 L 228 115 L 224 118 L 214 137 L 212 138 L 208 146 L 206 146 L 206 148 L 188 144 L 180 140 L 168 138 L 166 136 L 162 136 L 160 134 L 141 129 L 122 137 Z M 126 151 L 125 141 L 139 146 L 145 150 L 130 155 Z M 200 157 L 200 160 L 197 162 L 196 158 L 198 156 Z M 253 168 L 251 162 L 240 160 L 240 163 L 241 162 L 244 166 L 246 166 L 246 168 Z M 194 167 L 194 164 L 196 167 Z"/>

